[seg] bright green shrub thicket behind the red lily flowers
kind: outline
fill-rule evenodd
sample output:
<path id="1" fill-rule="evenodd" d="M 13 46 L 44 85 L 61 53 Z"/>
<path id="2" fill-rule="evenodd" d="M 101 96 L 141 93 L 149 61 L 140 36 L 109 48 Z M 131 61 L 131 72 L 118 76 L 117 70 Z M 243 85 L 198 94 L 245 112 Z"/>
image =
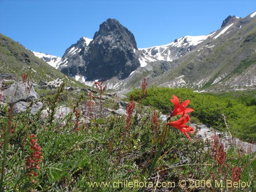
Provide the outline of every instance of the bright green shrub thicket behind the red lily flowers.
<path id="1" fill-rule="evenodd" d="M 181 100 L 190 99 L 190 107 L 196 109 L 191 113 L 193 121 L 208 124 L 225 131 L 223 115 L 227 117 L 232 135 L 244 141 L 256 141 L 256 91 L 197 93 L 190 89 L 169 89 L 153 87 L 147 90 L 147 97 L 139 99 L 136 90 L 130 94 L 144 105 L 154 106 L 167 114 L 172 109 L 170 96 L 179 95 Z M 246 127 L 246 129 L 245 129 Z"/>

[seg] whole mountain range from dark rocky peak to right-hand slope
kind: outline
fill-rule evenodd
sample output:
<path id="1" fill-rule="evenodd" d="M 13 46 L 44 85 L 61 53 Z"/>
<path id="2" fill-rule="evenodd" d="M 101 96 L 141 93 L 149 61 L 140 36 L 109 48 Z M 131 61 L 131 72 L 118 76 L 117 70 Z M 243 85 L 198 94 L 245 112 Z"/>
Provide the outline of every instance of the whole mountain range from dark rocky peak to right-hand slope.
<path id="1" fill-rule="evenodd" d="M 100 25 L 93 39 L 67 49 L 59 68 L 92 85 L 105 78 L 109 89 L 149 84 L 193 89 L 255 89 L 255 13 L 228 16 L 208 35 L 185 36 L 167 45 L 137 49 L 134 35 L 116 19 Z"/>

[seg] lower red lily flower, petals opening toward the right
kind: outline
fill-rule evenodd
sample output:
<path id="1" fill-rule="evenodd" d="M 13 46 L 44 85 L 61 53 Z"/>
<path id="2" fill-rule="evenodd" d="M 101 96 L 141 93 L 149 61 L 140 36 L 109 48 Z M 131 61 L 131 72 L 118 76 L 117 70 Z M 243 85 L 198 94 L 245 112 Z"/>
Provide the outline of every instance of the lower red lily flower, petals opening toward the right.
<path id="1" fill-rule="evenodd" d="M 189 121 L 188 114 L 183 113 L 182 117 L 179 120 L 173 121 L 173 122 L 168 122 L 168 125 L 171 125 L 177 129 L 179 129 L 191 141 L 191 138 L 189 137 L 189 135 L 187 133 L 195 133 L 195 130 L 193 127 L 186 125 L 186 123 L 188 121 Z"/>

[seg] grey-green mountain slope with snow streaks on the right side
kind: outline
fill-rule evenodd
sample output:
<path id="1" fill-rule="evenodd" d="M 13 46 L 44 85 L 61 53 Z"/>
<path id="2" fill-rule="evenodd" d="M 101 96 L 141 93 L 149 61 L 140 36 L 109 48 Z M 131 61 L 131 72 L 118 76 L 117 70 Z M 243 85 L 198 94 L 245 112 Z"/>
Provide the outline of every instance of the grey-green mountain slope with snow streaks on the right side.
<path id="1" fill-rule="evenodd" d="M 168 71 L 150 80 L 152 84 L 203 90 L 255 89 L 255 13 L 245 18 L 228 16 L 221 29 L 173 60 Z"/>

